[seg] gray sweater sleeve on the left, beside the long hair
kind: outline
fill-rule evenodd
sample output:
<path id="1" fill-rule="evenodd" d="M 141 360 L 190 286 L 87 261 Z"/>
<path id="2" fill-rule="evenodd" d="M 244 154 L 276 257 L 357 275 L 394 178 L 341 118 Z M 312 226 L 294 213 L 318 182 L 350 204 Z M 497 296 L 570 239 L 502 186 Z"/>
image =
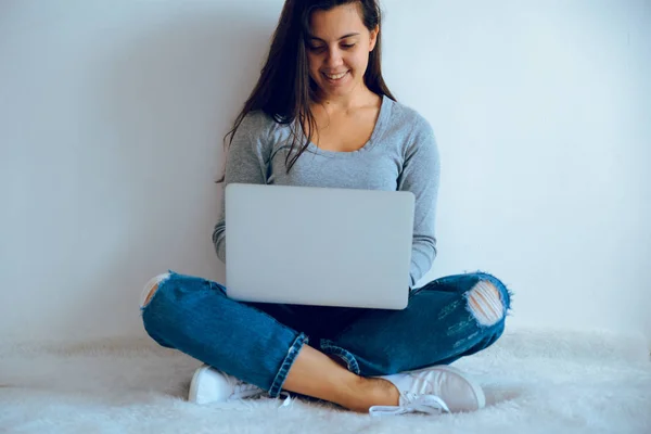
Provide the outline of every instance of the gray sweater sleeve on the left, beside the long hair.
<path id="1" fill-rule="evenodd" d="M 266 157 L 266 115 L 252 113 L 246 115 L 233 137 L 226 156 L 226 173 L 221 191 L 221 210 L 213 231 L 213 243 L 217 257 L 226 264 L 226 209 L 225 189 L 231 182 L 258 183 L 267 182 Z"/>

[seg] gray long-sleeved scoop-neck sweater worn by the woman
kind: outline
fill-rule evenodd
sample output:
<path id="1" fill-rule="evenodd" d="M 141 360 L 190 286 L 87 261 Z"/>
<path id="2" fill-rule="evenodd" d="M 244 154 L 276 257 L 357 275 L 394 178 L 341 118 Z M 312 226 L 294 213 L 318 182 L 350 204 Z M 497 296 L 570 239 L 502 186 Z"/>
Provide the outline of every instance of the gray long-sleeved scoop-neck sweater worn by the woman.
<path id="1" fill-rule="evenodd" d="M 409 272 L 413 288 L 436 256 L 434 218 L 441 164 L 430 124 L 416 111 L 384 97 L 371 138 L 358 151 L 324 151 L 309 143 L 288 174 L 290 144 L 289 126 L 261 112 L 250 113 L 229 148 L 222 186 L 243 182 L 411 191 L 416 196 Z M 213 242 L 217 256 L 226 263 L 224 201 Z"/>

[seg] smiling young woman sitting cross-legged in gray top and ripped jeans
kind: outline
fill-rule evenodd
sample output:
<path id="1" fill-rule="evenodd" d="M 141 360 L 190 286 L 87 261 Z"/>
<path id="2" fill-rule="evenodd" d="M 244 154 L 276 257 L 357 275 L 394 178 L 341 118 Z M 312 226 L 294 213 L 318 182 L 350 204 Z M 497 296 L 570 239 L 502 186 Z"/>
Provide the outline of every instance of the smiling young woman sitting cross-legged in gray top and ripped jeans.
<path id="1" fill-rule="evenodd" d="M 396 102 L 382 78 L 380 21 L 375 0 L 286 0 L 231 131 L 225 184 L 411 191 L 409 306 L 239 303 L 218 283 L 157 276 L 143 292 L 144 328 L 205 363 L 192 379 L 192 401 L 289 391 L 373 414 L 485 405 L 482 387 L 448 365 L 501 335 L 510 293 L 481 272 L 413 289 L 436 254 L 438 153 L 427 122 Z M 226 261 L 224 216 L 213 240 Z"/>

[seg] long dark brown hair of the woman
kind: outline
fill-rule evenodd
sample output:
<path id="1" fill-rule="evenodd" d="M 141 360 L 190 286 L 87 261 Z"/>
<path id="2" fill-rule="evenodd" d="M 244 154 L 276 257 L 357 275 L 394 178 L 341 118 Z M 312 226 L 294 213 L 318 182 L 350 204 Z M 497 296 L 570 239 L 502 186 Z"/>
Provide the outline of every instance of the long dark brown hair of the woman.
<path id="1" fill-rule="evenodd" d="M 373 30 L 382 22 L 382 12 L 378 0 L 285 0 L 278 27 L 273 33 L 269 55 L 261 69 L 260 78 L 235 118 L 233 128 L 226 135 L 228 144 L 240 128 L 244 117 L 255 111 L 263 111 L 279 124 L 290 125 L 292 145 L 285 157 L 288 173 L 296 159 L 305 152 L 317 128 L 317 122 L 310 108 L 317 91 L 317 85 L 309 76 L 306 41 L 309 35 L 309 20 L 317 10 L 329 11 L 335 7 L 359 3 L 365 27 Z M 382 31 L 373 51 L 369 54 L 369 64 L 363 75 L 366 86 L 378 95 L 395 100 L 384 78 L 382 78 Z M 307 126 L 306 141 L 298 152 L 297 129 Z M 224 177 L 219 182 L 224 180 Z"/>

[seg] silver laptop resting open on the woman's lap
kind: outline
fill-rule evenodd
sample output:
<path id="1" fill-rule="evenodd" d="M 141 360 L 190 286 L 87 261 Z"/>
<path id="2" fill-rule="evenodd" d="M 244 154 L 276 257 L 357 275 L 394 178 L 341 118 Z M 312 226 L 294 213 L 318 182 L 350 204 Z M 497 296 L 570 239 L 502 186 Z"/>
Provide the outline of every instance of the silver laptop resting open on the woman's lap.
<path id="1" fill-rule="evenodd" d="M 231 183 L 225 194 L 229 297 L 407 307 L 412 193 Z"/>

